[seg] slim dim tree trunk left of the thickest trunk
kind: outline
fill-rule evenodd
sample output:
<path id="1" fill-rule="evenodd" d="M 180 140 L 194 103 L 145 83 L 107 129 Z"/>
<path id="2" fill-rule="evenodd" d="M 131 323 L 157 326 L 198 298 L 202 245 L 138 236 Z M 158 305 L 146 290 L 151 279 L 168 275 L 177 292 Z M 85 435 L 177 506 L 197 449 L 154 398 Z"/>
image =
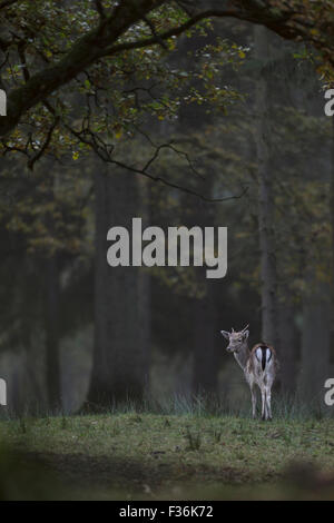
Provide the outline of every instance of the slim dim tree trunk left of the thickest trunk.
<path id="1" fill-rule="evenodd" d="M 61 408 L 58 262 L 56 254 L 46 259 L 46 379 L 51 411 Z"/>

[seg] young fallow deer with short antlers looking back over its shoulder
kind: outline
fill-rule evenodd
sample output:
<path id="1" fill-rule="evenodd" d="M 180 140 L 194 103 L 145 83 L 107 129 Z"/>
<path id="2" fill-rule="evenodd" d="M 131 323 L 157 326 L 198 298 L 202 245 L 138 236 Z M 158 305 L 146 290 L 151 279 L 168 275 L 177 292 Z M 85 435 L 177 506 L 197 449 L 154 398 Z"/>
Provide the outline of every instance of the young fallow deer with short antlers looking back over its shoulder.
<path id="1" fill-rule="evenodd" d="M 278 361 L 274 347 L 267 343 L 258 343 L 249 351 L 247 328 L 248 325 L 240 332 L 232 329 L 232 333 L 227 330 L 220 333 L 229 342 L 226 351 L 234 354 L 249 385 L 253 417 L 256 417 L 255 385 L 257 385 L 262 395 L 262 418 L 272 420 L 272 386 L 278 369 Z"/>

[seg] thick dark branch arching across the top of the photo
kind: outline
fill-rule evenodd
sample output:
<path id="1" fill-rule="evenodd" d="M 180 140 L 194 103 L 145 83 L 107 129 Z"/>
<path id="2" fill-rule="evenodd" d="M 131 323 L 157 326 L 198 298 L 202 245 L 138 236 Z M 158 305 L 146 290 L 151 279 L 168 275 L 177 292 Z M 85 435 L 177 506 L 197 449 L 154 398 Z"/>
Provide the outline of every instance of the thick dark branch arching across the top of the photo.
<path id="1" fill-rule="evenodd" d="M 13 4 L 17 0 L 4 0 L 0 3 L 0 9 Z M 47 66 L 43 70 L 31 76 L 23 85 L 8 93 L 8 116 L 0 119 L 0 137 L 6 137 L 19 124 L 22 115 L 37 103 L 43 101 L 49 95 L 66 83 L 75 79 L 99 59 L 112 56 L 117 52 L 130 49 L 138 49 L 147 46 L 158 45 L 171 37 L 177 37 L 190 29 L 194 24 L 207 18 L 235 18 L 253 23 L 259 23 L 275 31 L 286 39 L 304 39 L 320 49 L 324 49 L 326 60 L 334 66 L 333 46 L 326 47 L 324 38 L 330 41 L 331 28 L 327 33 L 320 37 L 310 33 L 308 22 L 305 12 L 299 9 L 297 12 L 287 2 L 283 3 L 283 9 L 275 9 L 275 3 L 262 0 L 230 0 L 230 10 L 207 9 L 187 20 L 186 22 L 169 29 L 168 31 L 155 33 L 151 38 L 144 38 L 136 41 L 117 43 L 127 30 L 141 20 L 147 20 L 146 16 L 154 9 L 168 3 L 167 0 L 122 0 L 114 11 L 100 19 L 97 27 L 87 34 L 78 39 L 67 55 L 58 62 Z M 101 2 L 96 3 L 101 7 Z M 294 17 L 298 14 L 298 21 Z M 302 17 L 302 18 L 301 18 Z M 153 30 L 153 28 L 150 28 Z M 332 41 L 332 40 L 331 40 Z"/>

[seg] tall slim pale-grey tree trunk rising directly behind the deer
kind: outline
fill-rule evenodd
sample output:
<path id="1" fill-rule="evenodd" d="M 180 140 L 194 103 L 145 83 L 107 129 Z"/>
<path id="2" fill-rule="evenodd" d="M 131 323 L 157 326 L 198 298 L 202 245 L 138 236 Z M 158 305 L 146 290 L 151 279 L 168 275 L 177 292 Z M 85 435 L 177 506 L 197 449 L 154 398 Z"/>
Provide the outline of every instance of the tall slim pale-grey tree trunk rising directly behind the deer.
<path id="1" fill-rule="evenodd" d="M 263 62 L 256 82 L 256 148 L 258 164 L 258 234 L 261 250 L 261 289 L 262 289 L 262 338 L 276 345 L 276 259 L 274 238 L 274 188 L 271 172 L 271 129 L 268 125 L 267 71 L 264 68 L 268 59 L 267 29 L 255 27 L 256 57 Z"/>

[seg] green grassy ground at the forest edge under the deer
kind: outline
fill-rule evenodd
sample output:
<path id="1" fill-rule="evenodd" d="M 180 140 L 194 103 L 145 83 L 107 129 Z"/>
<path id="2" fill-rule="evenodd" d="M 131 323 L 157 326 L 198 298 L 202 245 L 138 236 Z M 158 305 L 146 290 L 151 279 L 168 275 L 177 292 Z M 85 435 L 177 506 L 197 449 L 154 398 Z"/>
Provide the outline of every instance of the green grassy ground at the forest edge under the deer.
<path id="1" fill-rule="evenodd" d="M 2 499 L 334 499 L 334 421 L 109 414 L 2 421 Z"/>

